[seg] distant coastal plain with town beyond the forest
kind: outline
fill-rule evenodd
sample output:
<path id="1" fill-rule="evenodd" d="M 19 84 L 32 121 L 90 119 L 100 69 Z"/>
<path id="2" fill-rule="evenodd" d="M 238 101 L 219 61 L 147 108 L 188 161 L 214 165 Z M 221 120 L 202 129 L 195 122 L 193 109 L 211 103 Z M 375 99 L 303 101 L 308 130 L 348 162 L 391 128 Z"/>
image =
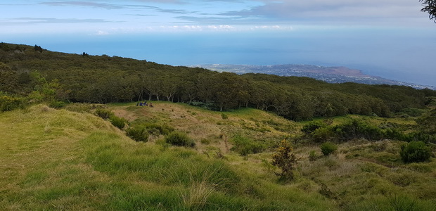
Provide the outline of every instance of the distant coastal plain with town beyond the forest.
<path id="1" fill-rule="evenodd" d="M 192 67 L 206 68 L 217 72 L 235 72 L 244 74 L 248 72 L 265 73 L 279 76 L 312 77 L 328 83 L 355 82 L 359 84 L 389 84 L 403 85 L 416 89 L 433 89 L 436 87 L 420 84 L 399 82 L 383 77 L 364 75 L 360 70 L 346 67 L 323 67 L 317 65 L 193 65 Z"/>

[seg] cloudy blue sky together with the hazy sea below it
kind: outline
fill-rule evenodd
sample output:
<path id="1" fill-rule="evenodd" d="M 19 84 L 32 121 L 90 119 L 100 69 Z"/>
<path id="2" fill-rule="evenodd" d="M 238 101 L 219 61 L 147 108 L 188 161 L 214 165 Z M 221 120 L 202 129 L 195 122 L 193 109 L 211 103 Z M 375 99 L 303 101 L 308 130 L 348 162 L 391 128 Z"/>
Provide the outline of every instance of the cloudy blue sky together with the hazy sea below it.
<path id="1" fill-rule="evenodd" d="M 418 0 L 1 0 L 0 41 L 210 63 L 347 66 L 436 86 L 436 23 Z"/>

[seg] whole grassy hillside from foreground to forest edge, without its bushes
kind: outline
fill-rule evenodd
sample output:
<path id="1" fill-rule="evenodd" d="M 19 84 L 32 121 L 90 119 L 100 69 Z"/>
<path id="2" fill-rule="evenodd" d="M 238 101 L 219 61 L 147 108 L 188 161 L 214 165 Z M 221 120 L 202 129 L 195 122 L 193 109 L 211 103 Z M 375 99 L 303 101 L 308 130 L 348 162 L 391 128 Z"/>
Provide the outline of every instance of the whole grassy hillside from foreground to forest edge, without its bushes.
<path id="1" fill-rule="evenodd" d="M 153 104 L 108 109 L 131 126 L 186 132 L 195 148 L 169 146 L 159 133 L 133 141 L 88 113 L 89 105 L 0 113 L 1 210 L 435 210 L 435 159 L 404 164 L 401 141 L 357 139 L 329 156 L 317 145 L 295 143 L 295 179 L 283 183 L 271 155 L 278 141 L 299 136 L 304 122 L 250 108 L 220 113 Z M 242 156 L 233 148 L 238 137 L 264 150 Z"/>

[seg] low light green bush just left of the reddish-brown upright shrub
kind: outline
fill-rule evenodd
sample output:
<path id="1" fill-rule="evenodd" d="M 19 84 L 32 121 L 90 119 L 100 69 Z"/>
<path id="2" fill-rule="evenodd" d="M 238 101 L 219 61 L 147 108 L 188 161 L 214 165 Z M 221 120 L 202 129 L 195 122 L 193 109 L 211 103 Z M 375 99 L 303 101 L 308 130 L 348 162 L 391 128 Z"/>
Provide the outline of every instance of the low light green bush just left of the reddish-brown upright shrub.
<path id="1" fill-rule="evenodd" d="M 265 150 L 265 146 L 259 141 L 253 141 L 243 136 L 235 136 L 231 139 L 234 146 L 231 151 L 236 151 L 237 153 L 245 156 L 248 154 L 262 153 Z"/>

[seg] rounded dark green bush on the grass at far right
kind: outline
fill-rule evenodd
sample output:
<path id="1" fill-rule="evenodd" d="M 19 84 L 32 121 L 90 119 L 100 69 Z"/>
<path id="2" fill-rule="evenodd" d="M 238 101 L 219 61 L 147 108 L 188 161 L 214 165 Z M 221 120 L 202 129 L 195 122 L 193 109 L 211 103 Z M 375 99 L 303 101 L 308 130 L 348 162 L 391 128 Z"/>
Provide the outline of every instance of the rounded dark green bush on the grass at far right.
<path id="1" fill-rule="evenodd" d="M 411 141 L 401 146 L 399 155 L 404 162 L 424 162 L 430 160 L 431 150 L 423 141 Z"/>

